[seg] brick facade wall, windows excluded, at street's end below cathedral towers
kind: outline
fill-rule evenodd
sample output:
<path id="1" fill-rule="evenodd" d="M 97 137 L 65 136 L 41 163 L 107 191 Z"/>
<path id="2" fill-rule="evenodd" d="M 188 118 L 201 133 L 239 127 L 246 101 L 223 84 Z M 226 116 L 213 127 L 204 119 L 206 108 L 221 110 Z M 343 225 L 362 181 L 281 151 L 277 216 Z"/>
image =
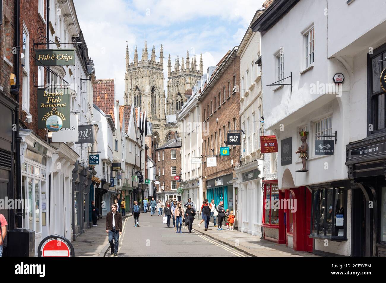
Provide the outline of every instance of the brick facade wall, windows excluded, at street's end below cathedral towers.
<path id="1" fill-rule="evenodd" d="M 176 159 L 170 159 L 171 158 L 171 150 L 176 150 Z M 164 160 L 162 160 L 162 151 L 164 152 Z M 162 186 L 162 182 L 165 182 L 165 192 L 171 191 L 171 181 L 174 180 L 174 176 L 171 176 L 171 166 L 176 166 L 176 174 L 181 174 L 181 155 L 180 155 L 181 147 L 176 148 L 166 148 L 166 149 L 159 149 L 156 151 L 156 175 L 158 175 L 158 167 L 161 168 L 161 175 L 159 176 L 159 186 Z M 160 158 L 158 161 L 158 152 L 160 152 Z M 162 168 L 165 169 L 165 175 L 162 174 Z M 176 188 L 179 187 L 179 182 L 176 182 Z M 158 188 L 157 188 L 158 189 Z M 158 190 L 157 190 L 158 191 Z M 177 194 L 177 191 L 175 191 Z"/>

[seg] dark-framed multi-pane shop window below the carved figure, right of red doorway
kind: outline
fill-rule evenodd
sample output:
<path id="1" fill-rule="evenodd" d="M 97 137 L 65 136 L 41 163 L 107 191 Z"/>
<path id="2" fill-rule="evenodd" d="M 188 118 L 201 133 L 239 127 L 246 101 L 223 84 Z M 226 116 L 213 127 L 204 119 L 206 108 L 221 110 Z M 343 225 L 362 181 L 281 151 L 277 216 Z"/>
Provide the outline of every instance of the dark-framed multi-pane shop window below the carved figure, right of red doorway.
<path id="1" fill-rule="evenodd" d="M 347 191 L 344 188 L 325 187 L 312 190 L 312 238 L 346 237 Z"/>

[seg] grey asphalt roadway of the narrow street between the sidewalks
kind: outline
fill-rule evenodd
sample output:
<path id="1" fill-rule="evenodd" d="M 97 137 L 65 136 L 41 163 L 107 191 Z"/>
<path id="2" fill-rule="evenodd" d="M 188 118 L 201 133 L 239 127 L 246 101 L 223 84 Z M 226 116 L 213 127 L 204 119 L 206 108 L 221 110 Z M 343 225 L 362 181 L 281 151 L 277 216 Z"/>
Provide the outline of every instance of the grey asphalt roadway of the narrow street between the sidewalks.
<path id="1" fill-rule="evenodd" d="M 150 212 L 140 214 L 140 227 L 134 226 L 133 217 L 122 224 L 118 256 L 247 256 L 195 231 L 188 234 L 186 226 L 182 234 L 176 234 L 172 219 L 168 229 L 161 216 L 150 216 Z M 106 256 L 112 256 L 110 251 Z"/>

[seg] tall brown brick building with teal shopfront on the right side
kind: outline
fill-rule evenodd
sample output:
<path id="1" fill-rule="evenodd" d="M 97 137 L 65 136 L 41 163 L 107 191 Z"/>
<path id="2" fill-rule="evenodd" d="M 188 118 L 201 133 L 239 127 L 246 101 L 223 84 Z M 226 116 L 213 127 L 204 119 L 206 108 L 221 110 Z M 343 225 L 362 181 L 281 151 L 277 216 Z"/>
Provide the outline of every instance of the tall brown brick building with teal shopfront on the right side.
<path id="1" fill-rule="evenodd" d="M 203 117 L 203 194 L 205 198 L 224 201 L 225 209 L 233 209 L 237 192 L 234 167 L 239 161 L 240 146 L 230 146 L 229 156 L 220 156 L 220 147 L 227 142 L 227 132 L 240 130 L 240 57 L 237 47 L 229 50 L 203 86 L 199 101 Z M 217 159 L 217 166 L 208 167 L 208 158 Z"/>

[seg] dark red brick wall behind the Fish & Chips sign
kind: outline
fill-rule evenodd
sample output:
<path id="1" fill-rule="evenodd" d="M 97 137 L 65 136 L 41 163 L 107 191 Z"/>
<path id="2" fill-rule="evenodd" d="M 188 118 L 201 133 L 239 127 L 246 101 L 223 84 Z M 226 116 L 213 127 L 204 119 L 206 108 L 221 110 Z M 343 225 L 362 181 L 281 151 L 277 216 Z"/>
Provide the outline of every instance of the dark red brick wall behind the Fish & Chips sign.
<path id="1" fill-rule="evenodd" d="M 13 1 L 9 1 L 13 2 Z M 45 15 L 45 11 L 44 11 Z M 27 123 L 25 121 L 26 113 L 20 107 L 20 124 L 22 124 L 27 129 L 32 129 L 38 136 L 42 139 L 46 139 L 46 130 L 38 129 L 37 126 L 37 90 L 34 87 L 34 75 L 35 75 L 35 84 L 37 84 L 37 66 L 35 65 L 35 59 L 32 58 L 34 55 L 34 45 L 37 43 L 37 39 L 40 35 L 37 33 L 39 27 L 44 27 L 46 31 L 46 25 L 42 21 L 38 13 L 38 0 L 20 0 L 20 53 L 22 52 L 23 46 L 23 24 L 26 26 L 29 33 L 29 42 L 27 48 L 29 48 L 29 97 L 30 97 L 30 114 L 32 115 L 32 123 Z M 45 33 L 44 33 L 45 35 Z M 52 35 L 50 34 L 52 39 Z M 46 48 L 46 46 L 41 45 L 40 48 Z M 56 48 L 55 45 L 52 45 L 52 48 Z M 26 62 L 27 64 L 27 62 Z M 44 74 L 44 83 L 46 83 L 46 72 Z M 20 69 L 20 91 L 19 91 L 19 102 L 20 105 L 23 105 L 23 80 L 22 80 L 22 69 Z"/>

